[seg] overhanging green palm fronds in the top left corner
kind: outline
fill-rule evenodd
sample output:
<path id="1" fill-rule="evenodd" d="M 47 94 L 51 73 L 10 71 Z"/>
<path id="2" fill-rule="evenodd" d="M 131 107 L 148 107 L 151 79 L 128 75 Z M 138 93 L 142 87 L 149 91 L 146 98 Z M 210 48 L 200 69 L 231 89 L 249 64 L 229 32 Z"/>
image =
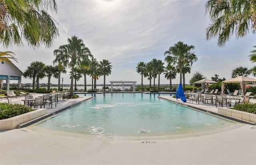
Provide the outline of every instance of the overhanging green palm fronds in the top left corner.
<path id="1" fill-rule="evenodd" d="M 6 48 L 22 40 L 32 47 L 52 46 L 58 28 L 47 10 L 57 13 L 55 0 L 1 0 L 0 43 Z"/>

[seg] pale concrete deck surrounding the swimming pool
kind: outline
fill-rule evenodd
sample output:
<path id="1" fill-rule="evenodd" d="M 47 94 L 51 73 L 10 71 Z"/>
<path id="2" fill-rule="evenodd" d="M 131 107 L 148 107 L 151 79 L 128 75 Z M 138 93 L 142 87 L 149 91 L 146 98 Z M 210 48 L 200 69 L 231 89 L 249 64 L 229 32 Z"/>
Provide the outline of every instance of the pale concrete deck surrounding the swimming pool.
<path id="1" fill-rule="evenodd" d="M 56 109 L 85 99 L 60 101 Z M 188 104 L 217 111 L 214 104 Z M 54 108 L 48 109 L 49 113 Z M 0 132 L 0 164 L 255 165 L 256 126 L 237 123 L 236 128 L 202 135 L 146 140 L 86 139 L 25 127 Z"/>

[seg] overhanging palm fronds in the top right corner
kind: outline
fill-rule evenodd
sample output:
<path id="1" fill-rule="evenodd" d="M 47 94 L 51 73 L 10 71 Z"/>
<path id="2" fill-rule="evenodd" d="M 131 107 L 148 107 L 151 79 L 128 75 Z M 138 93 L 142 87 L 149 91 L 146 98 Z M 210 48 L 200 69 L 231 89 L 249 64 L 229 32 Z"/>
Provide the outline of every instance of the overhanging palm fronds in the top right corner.
<path id="1" fill-rule="evenodd" d="M 235 33 L 236 38 L 244 37 L 256 30 L 255 0 L 208 0 L 206 14 L 212 24 L 206 28 L 206 39 L 218 36 L 218 46 L 224 46 Z"/>

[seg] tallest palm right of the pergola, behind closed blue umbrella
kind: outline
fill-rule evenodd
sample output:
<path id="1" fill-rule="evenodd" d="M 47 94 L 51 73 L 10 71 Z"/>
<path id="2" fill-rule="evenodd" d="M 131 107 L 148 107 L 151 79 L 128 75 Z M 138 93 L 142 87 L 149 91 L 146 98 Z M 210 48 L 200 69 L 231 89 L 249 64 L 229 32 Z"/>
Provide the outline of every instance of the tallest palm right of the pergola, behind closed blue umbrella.
<path id="1" fill-rule="evenodd" d="M 182 68 L 188 64 L 191 66 L 193 62 L 197 61 L 196 55 L 192 52 L 194 49 L 194 46 L 188 46 L 187 44 L 183 44 L 183 42 L 179 41 L 164 53 L 164 55 L 168 55 L 164 60 L 168 64 L 174 64 L 180 69 L 180 83 L 182 83 Z"/>

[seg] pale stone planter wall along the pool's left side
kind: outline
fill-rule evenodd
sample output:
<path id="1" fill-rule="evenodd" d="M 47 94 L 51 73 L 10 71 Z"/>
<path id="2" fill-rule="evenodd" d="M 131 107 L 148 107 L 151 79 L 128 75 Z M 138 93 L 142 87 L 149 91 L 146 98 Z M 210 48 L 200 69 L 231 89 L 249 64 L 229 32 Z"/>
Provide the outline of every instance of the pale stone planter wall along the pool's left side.
<path id="1" fill-rule="evenodd" d="M 2 119 L 0 120 L 0 131 L 16 129 L 18 125 L 36 119 L 42 115 L 46 115 L 46 113 L 47 109 L 42 108 L 18 116 L 10 117 L 8 119 Z"/>

